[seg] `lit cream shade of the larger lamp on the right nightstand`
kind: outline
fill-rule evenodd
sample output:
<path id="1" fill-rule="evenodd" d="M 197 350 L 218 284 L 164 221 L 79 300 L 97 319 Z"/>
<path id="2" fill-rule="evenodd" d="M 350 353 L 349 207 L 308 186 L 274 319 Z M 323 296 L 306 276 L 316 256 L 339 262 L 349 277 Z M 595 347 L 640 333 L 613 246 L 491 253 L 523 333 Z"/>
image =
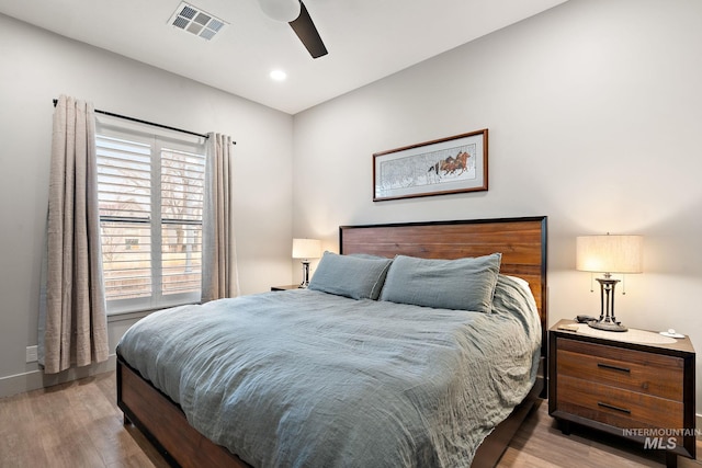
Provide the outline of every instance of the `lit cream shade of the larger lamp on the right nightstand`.
<path id="1" fill-rule="evenodd" d="M 580 236 L 576 238 L 576 269 L 595 273 L 641 273 L 642 236 Z"/>

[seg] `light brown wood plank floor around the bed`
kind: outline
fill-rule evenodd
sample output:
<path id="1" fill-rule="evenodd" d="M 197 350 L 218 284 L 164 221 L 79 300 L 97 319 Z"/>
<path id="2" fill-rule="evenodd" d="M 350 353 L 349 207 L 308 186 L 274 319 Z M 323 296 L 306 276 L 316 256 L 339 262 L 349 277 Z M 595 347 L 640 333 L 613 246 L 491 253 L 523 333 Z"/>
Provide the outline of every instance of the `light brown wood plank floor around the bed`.
<path id="1" fill-rule="evenodd" d="M 600 441 L 607 441 L 603 444 Z M 702 444 L 698 442 L 698 453 Z M 115 404 L 115 375 L 0 399 L 0 467 L 167 467 L 132 425 L 123 425 Z M 600 433 L 558 431 L 542 402 L 507 449 L 508 467 L 663 467 L 664 458 Z M 681 468 L 702 461 L 679 457 Z"/>

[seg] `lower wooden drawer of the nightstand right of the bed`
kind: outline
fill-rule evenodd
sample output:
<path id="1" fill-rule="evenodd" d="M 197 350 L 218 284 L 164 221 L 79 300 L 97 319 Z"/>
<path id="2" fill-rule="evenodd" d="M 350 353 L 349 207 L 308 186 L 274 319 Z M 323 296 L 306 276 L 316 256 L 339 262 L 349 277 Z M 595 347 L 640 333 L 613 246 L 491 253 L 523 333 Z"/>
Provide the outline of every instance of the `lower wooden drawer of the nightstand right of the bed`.
<path id="1" fill-rule="evenodd" d="M 623 429 L 680 429 L 682 402 L 559 375 L 557 404 L 563 411 Z"/>

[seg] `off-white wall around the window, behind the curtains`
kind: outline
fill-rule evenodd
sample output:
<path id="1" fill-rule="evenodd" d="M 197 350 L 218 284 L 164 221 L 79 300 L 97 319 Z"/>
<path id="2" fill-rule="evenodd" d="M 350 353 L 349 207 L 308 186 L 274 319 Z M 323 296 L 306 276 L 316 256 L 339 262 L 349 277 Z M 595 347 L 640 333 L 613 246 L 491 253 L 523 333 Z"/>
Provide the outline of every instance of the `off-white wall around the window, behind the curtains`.
<path id="1" fill-rule="evenodd" d="M 291 282 L 290 115 L 4 15 L 0 47 L 0 397 L 43 384 L 36 364 L 25 364 L 25 347 L 37 342 L 52 100 L 61 93 L 100 110 L 231 135 L 241 292 Z M 261 171 L 261 160 L 275 170 Z M 113 349 L 133 321 L 110 323 Z"/>

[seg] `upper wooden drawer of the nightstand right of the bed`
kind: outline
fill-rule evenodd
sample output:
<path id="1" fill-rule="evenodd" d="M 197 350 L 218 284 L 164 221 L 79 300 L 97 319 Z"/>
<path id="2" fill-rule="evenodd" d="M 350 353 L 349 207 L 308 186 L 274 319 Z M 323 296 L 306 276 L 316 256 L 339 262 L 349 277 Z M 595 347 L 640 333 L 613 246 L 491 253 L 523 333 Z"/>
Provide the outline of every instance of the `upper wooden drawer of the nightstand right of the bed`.
<path id="1" fill-rule="evenodd" d="M 557 373 L 682 401 L 683 359 L 675 356 L 559 339 Z"/>

